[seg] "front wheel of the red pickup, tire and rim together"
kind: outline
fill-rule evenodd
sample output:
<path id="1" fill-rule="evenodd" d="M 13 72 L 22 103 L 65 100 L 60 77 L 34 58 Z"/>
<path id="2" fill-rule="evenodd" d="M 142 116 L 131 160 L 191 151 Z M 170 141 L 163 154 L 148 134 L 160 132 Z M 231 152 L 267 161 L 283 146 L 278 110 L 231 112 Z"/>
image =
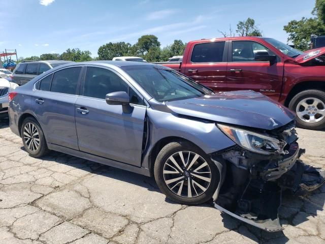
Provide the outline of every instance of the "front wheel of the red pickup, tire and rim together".
<path id="1" fill-rule="evenodd" d="M 289 103 L 289 109 L 297 113 L 297 126 L 321 130 L 325 128 L 325 92 L 322 90 L 304 90 Z"/>

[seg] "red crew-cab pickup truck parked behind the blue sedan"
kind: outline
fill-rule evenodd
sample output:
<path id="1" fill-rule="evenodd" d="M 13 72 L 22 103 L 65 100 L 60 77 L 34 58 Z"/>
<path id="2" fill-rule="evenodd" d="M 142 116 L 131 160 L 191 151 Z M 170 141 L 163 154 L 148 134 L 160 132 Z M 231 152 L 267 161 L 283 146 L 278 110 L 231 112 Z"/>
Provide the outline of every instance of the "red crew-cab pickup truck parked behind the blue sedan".
<path id="1" fill-rule="evenodd" d="M 325 128 L 325 48 L 301 52 L 272 38 L 202 39 L 182 62 L 163 62 L 216 92 L 254 90 L 297 113 L 297 125 Z"/>

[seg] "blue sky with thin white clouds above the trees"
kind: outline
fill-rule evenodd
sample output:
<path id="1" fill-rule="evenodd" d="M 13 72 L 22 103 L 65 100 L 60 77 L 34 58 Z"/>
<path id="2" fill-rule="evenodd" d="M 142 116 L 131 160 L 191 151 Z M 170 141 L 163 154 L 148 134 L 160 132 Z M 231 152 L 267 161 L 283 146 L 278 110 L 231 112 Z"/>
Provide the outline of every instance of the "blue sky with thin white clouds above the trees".
<path id="1" fill-rule="evenodd" d="M 161 47 L 221 37 L 240 20 L 253 18 L 263 36 L 287 42 L 283 26 L 311 17 L 314 0 L 0 0 L 0 51 L 18 57 L 62 53 L 68 48 L 98 56 L 109 42 L 135 44 L 142 35 Z"/>

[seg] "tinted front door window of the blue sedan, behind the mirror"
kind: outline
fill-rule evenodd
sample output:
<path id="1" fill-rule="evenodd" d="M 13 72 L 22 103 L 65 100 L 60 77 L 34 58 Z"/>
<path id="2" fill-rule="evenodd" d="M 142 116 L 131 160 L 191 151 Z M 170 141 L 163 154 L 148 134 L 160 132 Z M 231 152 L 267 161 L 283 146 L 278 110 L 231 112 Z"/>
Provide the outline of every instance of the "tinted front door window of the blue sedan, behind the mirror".
<path id="1" fill-rule="evenodd" d="M 106 94 L 128 92 L 128 85 L 114 72 L 88 67 L 83 88 L 83 95 L 91 98 L 105 99 Z"/>

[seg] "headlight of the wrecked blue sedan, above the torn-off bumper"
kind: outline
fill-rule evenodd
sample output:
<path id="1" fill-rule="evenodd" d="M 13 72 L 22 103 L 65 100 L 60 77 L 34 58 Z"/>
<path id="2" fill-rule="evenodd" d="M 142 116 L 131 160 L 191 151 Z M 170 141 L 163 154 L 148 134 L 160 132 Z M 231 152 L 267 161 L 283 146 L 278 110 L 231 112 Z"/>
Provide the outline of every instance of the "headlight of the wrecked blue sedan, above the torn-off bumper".
<path id="1" fill-rule="evenodd" d="M 241 128 L 217 124 L 220 130 L 241 147 L 258 154 L 272 154 L 275 151 L 281 153 L 279 140 Z"/>

